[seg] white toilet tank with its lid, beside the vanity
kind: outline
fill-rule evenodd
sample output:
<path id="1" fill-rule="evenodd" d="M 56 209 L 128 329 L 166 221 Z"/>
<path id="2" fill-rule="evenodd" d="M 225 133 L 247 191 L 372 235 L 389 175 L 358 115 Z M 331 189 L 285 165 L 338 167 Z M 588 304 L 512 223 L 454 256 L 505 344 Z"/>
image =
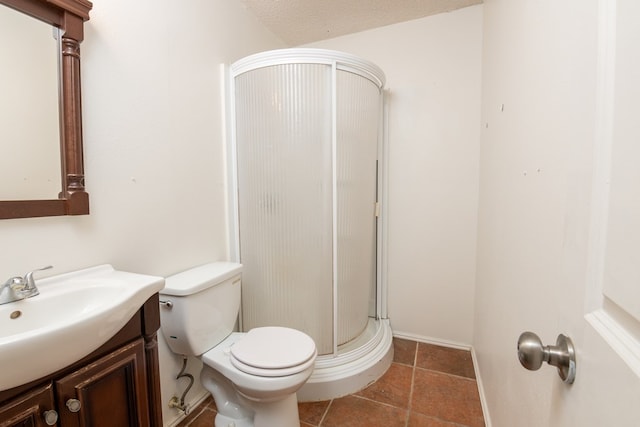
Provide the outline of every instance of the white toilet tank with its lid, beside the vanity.
<path id="1" fill-rule="evenodd" d="M 200 356 L 233 332 L 241 273 L 241 264 L 214 262 L 166 278 L 160 328 L 171 351 Z"/>

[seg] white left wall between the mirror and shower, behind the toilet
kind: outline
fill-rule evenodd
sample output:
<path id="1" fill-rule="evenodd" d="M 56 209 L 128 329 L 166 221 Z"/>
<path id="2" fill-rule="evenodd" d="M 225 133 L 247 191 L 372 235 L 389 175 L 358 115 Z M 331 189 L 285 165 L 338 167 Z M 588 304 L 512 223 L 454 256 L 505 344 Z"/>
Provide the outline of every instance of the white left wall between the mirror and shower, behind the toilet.
<path id="1" fill-rule="evenodd" d="M 235 1 L 93 5 L 81 46 L 91 214 L 0 221 L 0 277 L 101 263 L 166 276 L 227 258 L 219 66 L 283 43 Z M 163 342 L 160 364 L 170 422 L 185 382 Z"/>

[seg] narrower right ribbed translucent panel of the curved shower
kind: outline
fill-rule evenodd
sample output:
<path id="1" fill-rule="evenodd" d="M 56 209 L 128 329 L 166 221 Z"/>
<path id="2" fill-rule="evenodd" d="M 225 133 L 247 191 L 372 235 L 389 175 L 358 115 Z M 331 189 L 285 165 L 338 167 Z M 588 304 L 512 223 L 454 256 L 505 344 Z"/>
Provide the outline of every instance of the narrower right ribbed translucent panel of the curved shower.
<path id="1" fill-rule="evenodd" d="M 376 182 L 380 90 L 348 71 L 336 76 L 338 345 L 375 316 Z"/>

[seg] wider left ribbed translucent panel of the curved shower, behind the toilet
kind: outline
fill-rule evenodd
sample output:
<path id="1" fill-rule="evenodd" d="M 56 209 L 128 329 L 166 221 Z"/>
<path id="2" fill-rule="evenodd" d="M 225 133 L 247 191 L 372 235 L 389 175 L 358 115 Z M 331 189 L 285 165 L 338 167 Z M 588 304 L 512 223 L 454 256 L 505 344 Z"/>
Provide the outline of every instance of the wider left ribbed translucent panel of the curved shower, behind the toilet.
<path id="1" fill-rule="evenodd" d="M 235 79 L 243 328 L 288 326 L 333 351 L 331 66 Z"/>

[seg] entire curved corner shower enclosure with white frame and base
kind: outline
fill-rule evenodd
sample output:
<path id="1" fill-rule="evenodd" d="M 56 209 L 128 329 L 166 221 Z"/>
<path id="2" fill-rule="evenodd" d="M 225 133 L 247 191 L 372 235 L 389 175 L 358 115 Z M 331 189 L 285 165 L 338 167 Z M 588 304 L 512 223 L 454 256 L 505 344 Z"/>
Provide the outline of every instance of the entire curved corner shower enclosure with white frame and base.
<path id="1" fill-rule="evenodd" d="M 283 49 L 236 62 L 229 77 L 241 327 L 314 339 L 301 400 L 352 393 L 392 357 L 380 269 L 384 74 L 340 52 Z"/>

